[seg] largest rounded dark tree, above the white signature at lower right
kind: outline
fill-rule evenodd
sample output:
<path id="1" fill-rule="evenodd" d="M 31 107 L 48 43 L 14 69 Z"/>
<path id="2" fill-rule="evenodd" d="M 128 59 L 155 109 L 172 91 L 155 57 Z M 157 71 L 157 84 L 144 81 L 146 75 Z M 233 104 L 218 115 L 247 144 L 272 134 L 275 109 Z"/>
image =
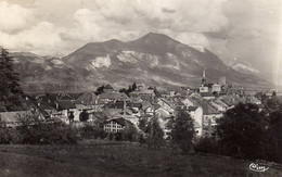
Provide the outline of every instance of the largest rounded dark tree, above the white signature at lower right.
<path id="1" fill-rule="evenodd" d="M 267 121 L 255 104 L 239 103 L 218 119 L 217 136 L 226 155 L 264 157 Z"/>

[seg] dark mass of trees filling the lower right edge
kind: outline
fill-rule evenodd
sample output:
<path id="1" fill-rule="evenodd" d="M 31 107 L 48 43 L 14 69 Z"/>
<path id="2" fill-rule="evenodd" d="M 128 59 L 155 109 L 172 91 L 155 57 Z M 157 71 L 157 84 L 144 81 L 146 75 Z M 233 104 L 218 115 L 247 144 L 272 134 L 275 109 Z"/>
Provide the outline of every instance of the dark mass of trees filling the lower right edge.
<path id="1" fill-rule="evenodd" d="M 282 162 L 281 100 L 267 100 L 264 110 L 255 104 L 239 103 L 218 119 L 215 135 L 202 138 L 195 150 L 239 159 Z"/>

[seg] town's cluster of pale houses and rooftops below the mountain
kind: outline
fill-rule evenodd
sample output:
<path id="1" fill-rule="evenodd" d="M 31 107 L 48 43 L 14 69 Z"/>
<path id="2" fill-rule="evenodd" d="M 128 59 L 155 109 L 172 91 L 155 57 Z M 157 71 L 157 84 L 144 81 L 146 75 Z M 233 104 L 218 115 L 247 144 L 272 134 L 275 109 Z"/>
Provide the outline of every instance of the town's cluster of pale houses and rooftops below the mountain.
<path id="1" fill-rule="evenodd" d="M 167 136 L 170 131 L 166 127 L 169 119 L 179 112 L 187 112 L 194 121 L 196 136 L 213 136 L 217 119 L 239 102 L 261 105 L 254 96 L 229 93 L 227 88 L 226 78 L 220 78 L 218 84 L 207 84 L 204 73 L 202 86 L 197 89 L 180 88 L 157 96 L 154 89 L 143 84 L 137 84 L 137 89 L 129 96 L 114 90 L 110 85 L 98 96 L 94 92 L 38 94 L 23 99 L 29 105 L 27 111 L 0 112 L 0 121 L 12 127 L 18 124 L 18 115 L 37 112 L 41 119 L 73 126 L 94 124 L 97 119 L 102 119 L 104 131 L 118 132 L 127 126 L 138 128 L 142 118 L 157 117 Z M 87 122 L 81 121 L 81 113 L 88 114 Z"/>

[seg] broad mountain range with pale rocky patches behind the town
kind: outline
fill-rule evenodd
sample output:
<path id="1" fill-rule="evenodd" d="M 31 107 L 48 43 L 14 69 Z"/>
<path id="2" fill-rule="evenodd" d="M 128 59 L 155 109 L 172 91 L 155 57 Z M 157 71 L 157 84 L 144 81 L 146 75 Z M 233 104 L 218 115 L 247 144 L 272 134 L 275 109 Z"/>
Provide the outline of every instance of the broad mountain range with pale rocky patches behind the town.
<path id="1" fill-rule="evenodd" d="M 90 42 L 63 58 L 24 52 L 12 55 L 26 91 L 86 91 L 106 84 L 127 88 L 132 83 L 198 87 L 203 69 L 209 83 L 225 76 L 228 84 L 271 85 L 252 71 L 240 72 L 240 65 L 227 66 L 207 49 L 197 50 L 153 33 L 127 42 Z"/>

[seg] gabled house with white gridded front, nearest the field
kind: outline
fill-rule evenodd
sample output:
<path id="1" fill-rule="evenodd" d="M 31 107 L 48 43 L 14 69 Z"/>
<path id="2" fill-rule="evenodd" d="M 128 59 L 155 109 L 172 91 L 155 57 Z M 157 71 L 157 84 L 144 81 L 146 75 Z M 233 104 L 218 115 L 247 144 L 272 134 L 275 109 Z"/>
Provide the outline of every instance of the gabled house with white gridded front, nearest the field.
<path id="1" fill-rule="evenodd" d="M 130 125 L 132 125 L 132 123 L 120 117 L 120 118 L 113 118 L 107 121 L 104 124 L 103 128 L 105 132 L 119 132 Z"/>

